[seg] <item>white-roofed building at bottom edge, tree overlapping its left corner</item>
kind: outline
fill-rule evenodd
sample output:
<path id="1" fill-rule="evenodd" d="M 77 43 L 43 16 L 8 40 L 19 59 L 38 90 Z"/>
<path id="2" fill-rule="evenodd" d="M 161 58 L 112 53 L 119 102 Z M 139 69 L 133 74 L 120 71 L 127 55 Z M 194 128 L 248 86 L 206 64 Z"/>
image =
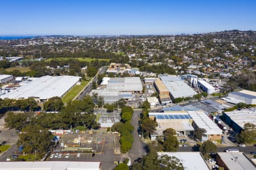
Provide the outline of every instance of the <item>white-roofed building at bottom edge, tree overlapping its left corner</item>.
<path id="1" fill-rule="evenodd" d="M 186 170 L 208 170 L 207 164 L 200 152 L 158 152 L 159 157 L 163 155 L 175 156 L 180 160 Z"/>

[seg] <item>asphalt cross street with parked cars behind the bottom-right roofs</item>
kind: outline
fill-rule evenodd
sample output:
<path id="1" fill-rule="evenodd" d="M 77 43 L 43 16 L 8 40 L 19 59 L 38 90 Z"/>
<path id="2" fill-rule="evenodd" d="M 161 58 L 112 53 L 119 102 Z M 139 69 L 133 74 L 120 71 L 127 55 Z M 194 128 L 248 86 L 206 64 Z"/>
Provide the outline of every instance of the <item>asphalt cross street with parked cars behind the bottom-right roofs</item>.
<path id="1" fill-rule="evenodd" d="M 256 151 L 255 146 L 246 146 L 246 147 L 217 147 L 217 152 L 223 152 L 230 148 L 238 148 L 240 152 L 244 152 L 245 154 L 250 154 L 250 152 Z M 191 151 L 198 151 L 197 148 L 188 146 L 188 147 L 179 147 L 178 152 L 191 152 Z"/>

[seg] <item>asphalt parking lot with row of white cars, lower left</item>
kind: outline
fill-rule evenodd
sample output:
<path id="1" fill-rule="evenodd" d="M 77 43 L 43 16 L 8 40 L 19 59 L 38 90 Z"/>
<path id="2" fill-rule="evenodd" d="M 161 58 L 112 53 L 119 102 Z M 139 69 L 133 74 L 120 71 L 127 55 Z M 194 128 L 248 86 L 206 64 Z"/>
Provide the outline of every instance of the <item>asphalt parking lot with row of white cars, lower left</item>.
<path id="1" fill-rule="evenodd" d="M 63 143 L 64 147 L 61 147 Z M 112 169 L 121 160 L 119 136 L 110 132 L 93 131 L 92 134 L 71 133 L 60 137 L 59 145 L 49 154 L 48 161 L 100 161 L 102 169 Z M 58 156 L 52 156 L 57 154 Z M 59 156 L 59 154 L 62 154 Z M 66 156 L 68 154 L 68 156 Z M 77 156 L 79 154 L 79 156 Z"/>

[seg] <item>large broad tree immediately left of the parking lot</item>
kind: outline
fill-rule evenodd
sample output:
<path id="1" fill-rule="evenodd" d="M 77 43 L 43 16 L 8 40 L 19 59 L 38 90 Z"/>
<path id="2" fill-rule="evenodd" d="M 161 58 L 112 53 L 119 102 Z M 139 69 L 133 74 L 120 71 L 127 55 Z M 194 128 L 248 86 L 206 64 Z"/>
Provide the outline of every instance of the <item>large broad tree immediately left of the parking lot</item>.
<path id="1" fill-rule="evenodd" d="M 27 125 L 19 134 L 17 145 L 23 145 L 26 154 L 35 153 L 42 157 L 52 144 L 53 135 L 39 125 Z"/>

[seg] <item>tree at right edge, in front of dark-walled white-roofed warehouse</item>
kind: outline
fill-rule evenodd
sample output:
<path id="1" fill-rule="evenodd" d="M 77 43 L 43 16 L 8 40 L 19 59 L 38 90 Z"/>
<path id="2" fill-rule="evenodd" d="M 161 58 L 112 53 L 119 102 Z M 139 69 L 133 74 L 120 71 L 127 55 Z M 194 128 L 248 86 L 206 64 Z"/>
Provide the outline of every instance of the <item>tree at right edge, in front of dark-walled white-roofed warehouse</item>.
<path id="1" fill-rule="evenodd" d="M 237 141 L 239 143 L 252 143 L 256 138 L 255 125 L 246 123 L 240 134 L 237 135 Z"/>

